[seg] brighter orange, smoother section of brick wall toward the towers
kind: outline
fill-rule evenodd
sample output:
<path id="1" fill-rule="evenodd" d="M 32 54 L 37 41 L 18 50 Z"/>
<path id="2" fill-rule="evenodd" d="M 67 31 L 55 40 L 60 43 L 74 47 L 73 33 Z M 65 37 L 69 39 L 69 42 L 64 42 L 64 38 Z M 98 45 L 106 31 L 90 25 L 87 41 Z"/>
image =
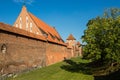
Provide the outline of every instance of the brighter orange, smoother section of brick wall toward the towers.
<path id="1" fill-rule="evenodd" d="M 65 57 L 65 49 L 64 46 L 48 43 L 46 45 L 47 65 L 62 61 Z"/>

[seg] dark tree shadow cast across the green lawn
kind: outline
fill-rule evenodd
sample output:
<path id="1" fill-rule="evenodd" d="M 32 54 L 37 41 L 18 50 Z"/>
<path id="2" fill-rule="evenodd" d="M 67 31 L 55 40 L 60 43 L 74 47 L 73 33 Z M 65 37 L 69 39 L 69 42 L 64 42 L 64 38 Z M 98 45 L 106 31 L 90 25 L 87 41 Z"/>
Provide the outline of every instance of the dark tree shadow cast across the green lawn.
<path id="1" fill-rule="evenodd" d="M 78 63 L 73 60 L 64 60 L 64 62 L 66 64 L 62 65 L 61 68 L 72 73 L 93 75 L 94 80 L 120 80 L 120 70 L 106 75 L 105 67 L 95 67 L 95 63 Z M 103 75 L 96 73 L 102 70 Z"/>

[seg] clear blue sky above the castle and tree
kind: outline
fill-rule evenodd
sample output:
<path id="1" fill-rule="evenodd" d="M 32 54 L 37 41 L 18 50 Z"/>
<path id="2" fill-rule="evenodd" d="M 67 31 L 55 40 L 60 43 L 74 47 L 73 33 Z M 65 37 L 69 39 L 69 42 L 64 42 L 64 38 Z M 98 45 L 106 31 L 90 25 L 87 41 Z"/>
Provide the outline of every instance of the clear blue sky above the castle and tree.
<path id="1" fill-rule="evenodd" d="M 26 0 L 29 12 L 54 26 L 66 40 L 69 34 L 81 42 L 88 20 L 102 16 L 107 8 L 120 8 L 120 0 Z M 13 25 L 23 3 L 0 0 L 0 22 Z"/>

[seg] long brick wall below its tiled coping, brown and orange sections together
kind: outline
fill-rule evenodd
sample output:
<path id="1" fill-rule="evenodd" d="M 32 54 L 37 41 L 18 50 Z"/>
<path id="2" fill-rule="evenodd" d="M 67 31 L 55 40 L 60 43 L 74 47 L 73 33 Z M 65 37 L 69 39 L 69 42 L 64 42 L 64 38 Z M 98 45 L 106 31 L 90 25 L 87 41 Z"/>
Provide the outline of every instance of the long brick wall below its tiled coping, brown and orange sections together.
<path id="1" fill-rule="evenodd" d="M 2 53 L 2 46 L 6 52 Z M 66 46 L 0 30 L 0 73 L 44 67 L 71 57 Z"/>

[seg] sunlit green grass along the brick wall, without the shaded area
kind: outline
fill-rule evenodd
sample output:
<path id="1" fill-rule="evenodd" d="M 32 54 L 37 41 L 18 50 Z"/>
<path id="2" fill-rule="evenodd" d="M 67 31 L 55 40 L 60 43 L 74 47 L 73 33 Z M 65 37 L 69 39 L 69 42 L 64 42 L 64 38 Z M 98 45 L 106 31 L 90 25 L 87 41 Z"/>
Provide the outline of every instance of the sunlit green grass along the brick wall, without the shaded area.
<path id="1" fill-rule="evenodd" d="M 72 60 L 83 63 L 88 62 L 80 58 Z M 29 73 L 20 74 L 15 78 L 11 77 L 7 80 L 94 80 L 94 76 L 92 75 L 66 71 L 61 68 L 62 65 L 67 65 L 67 63 L 56 63 Z"/>

